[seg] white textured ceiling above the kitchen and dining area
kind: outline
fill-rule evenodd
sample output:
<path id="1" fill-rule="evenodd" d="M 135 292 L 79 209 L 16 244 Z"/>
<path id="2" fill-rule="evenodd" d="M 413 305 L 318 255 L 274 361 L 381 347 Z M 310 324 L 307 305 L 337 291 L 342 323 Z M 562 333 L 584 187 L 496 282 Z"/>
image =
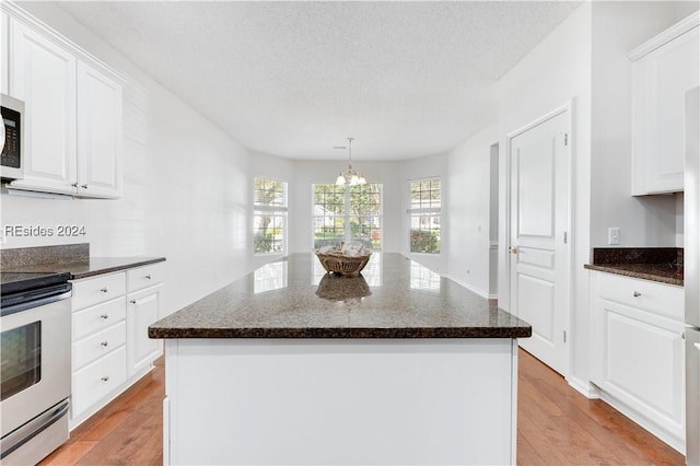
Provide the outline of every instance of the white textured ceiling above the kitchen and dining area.
<path id="1" fill-rule="evenodd" d="M 60 2 L 248 149 L 400 160 L 495 118 L 493 83 L 580 2 Z"/>

